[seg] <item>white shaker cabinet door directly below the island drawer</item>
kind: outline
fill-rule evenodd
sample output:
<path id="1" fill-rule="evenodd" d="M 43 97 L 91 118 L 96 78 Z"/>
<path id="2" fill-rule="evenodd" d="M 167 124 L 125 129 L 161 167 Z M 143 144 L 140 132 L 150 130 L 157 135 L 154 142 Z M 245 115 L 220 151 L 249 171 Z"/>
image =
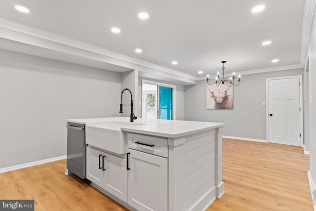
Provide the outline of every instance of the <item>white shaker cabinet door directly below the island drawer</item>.
<path id="1" fill-rule="evenodd" d="M 127 203 L 139 211 L 167 211 L 168 159 L 132 149 L 129 153 Z"/>

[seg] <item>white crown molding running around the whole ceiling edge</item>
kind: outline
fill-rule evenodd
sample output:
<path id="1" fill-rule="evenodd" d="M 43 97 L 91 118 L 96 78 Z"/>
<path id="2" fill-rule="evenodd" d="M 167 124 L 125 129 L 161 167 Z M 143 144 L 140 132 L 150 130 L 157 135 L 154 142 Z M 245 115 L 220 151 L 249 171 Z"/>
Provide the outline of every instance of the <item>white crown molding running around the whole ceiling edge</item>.
<path id="1" fill-rule="evenodd" d="M 315 4 L 316 0 L 306 0 L 305 4 L 305 10 L 308 10 L 305 14 L 304 11 L 304 19 L 303 19 L 303 31 L 302 31 L 302 46 L 301 46 L 301 63 L 300 64 L 293 64 L 293 65 L 286 65 L 286 66 L 278 66 L 278 67 L 272 67 L 272 68 L 262 68 L 262 69 L 253 69 L 253 70 L 246 70 L 238 72 L 240 75 L 247 75 L 247 74 L 256 74 L 256 73 L 264 73 L 264 72 L 272 72 L 272 71 L 280 71 L 280 70 L 289 70 L 289 69 L 296 69 L 296 68 L 302 68 L 304 67 L 305 57 L 306 57 L 306 51 L 307 51 L 307 45 L 308 45 L 308 39 L 309 39 L 309 32 L 311 30 L 312 20 L 313 20 L 313 14 L 315 10 Z M 63 49 L 69 50 L 69 52 L 73 51 L 73 49 L 77 50 L 83 50 L 85 52 L 89 53 L 96 53 L 101 56 L 107 56 L 113 59 L 120 60 L 122 62 L 129 62 L 132 64 L 140 65 L 142 67 L 149 68 L 146 72 L 151 72 L 150 69 L 156 70 L 156 74 L 159 72 L 166 76 L 166 77 L 179 77 L 179 80 L 185 81 L 191 84 L 196 84 L 196 81 L 205 80 L 205 77 L 196 77 L 189 74 L 182 73 L 180 71 L 176 71 L 170 68 L 166 68 L 145 60 L 137 59 L 134 57 L 126 56 L 120 53 L 117 53 L 115 51 L 111 51 L 96 45 L 92 45 L 86 42 L 81 42 L 79 40 L 75 40 L 66 36 L 62 36 L 59 34 L 55 34 L 46 30 L 41 30 L 39 28 L 35 28 L 26 24 L 18 23 L 16 21 L 12 21 L 3 17 L 0 17 L 0 28 L 5 30 L 10 30 L 12 32 L 20 33 L 26 36 L 31 36 L 32 38 L 38 38 L 47 42 L 54 42 L 63 45 Z M 35 43 L 36 40 L 32 41 L 26 41 L 25 38 L 19 38 L 19 36 L 7 36 L 0 33 L 0 37 L 13 40 L 17 42 L 27 43 L 27 44 L 33 44 L 37 46 Z M 41 46 L 42 47 L 42 46 Z M 51 47 L 51 46 L 50 46 Z M 68 47 L 68 48 L 67 48 Z M 71 49 L 72 48 L 72 49 Z M 60 51 L 60 48 L 57 49 L 57 46 L 55 49 L 56 51 Z M 303 53 L 304 52 L 304 53 Z M 66 52 L 67 53 L 67 52 Z M 89 55 L 91 56 L 91 55 Z M 95 60 L 101 61 L 99 58 L 94 57 Z M 303 61 L 303 62 L 302 62 Z M 104 62 L 104 61 L 103 61 Z M 155 72 L 155 71 L 154 71 Z M 216 75 L 210 76 L 209 78 L 216 78 Z"/>

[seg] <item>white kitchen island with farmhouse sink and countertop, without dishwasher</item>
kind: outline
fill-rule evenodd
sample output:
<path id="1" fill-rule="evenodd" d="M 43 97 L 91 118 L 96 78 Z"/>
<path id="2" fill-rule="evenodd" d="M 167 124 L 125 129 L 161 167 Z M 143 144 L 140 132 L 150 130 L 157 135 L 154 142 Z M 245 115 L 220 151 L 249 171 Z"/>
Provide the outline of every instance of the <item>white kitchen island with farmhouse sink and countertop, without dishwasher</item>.
<path id="1" fill-rule="evenodd" d="M 202 211 L 224 194 L 223 123 L 66 121 L 85 127 L 86 178 L 130 210 Z"/>

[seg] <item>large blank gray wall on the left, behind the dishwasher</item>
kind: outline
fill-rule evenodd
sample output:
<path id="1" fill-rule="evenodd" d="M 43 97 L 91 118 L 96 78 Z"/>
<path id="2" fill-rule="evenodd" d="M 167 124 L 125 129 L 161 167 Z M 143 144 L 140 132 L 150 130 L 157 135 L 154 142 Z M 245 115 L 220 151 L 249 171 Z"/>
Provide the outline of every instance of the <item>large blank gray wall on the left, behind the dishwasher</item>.
<path id="1" fill-rule="evenodd" d="M 120 74 L 0 50 L 0 169 L 66 155 L 65 119 L 119 116 Z"/>

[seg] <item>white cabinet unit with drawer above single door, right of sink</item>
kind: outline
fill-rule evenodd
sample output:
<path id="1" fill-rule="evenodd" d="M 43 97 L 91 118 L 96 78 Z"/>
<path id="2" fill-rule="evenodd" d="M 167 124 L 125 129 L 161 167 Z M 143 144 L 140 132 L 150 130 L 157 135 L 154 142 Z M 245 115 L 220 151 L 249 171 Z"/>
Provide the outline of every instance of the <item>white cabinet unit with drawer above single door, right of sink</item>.
<path id="1" fill-rule="evenodd" d="M 127 132 L 127 146 L 128 204 L 140 211 L 168 210 L 168 140 Z"/>

